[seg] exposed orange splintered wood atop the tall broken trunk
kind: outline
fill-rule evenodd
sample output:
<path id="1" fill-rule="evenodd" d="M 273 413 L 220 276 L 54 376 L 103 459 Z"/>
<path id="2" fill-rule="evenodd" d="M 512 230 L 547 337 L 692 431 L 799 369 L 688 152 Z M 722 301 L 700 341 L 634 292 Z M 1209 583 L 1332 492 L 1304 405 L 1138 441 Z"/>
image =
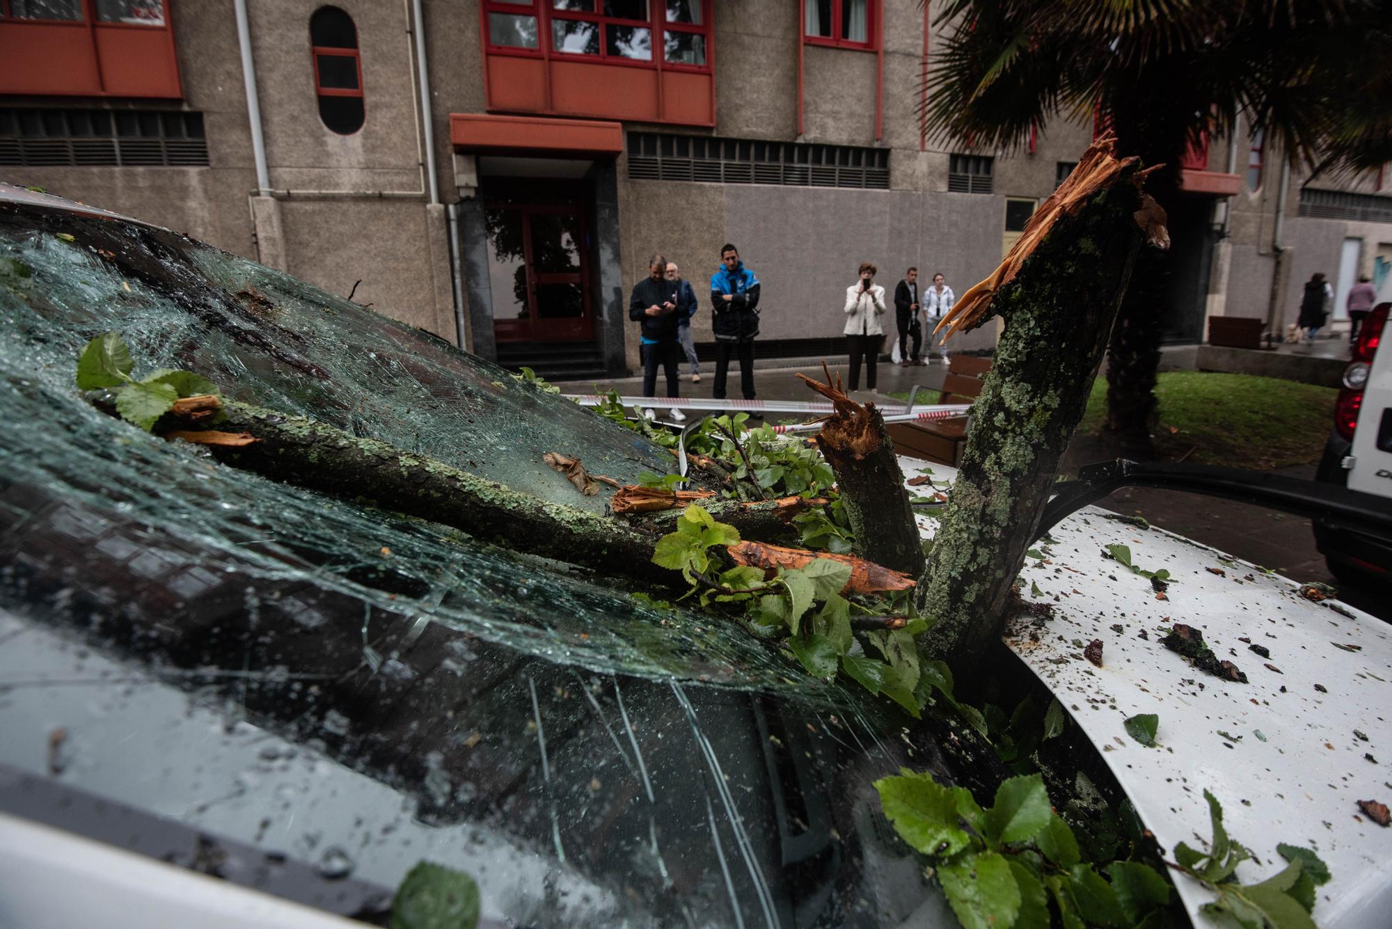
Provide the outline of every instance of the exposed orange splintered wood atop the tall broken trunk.
<path id="1" fill-rule="evenodd" d="M 947 327 L 941 342 L 947 342 L 956 332 L 973 330 L 984 323 L 995 292 L 1015 280 L 1020 266 L 1034 253 L 1034 249 L 1050 234 L 1050 229 L 1054 228 L 1059 217 L 1077 213 L 1089 197 L 1104 188 L 1112 186 L 1122 170 L 1137 161 L 1134 157 L 1118 159 L 1115 157 L 1115 152 L 1116 138 L 1112 135 L 1104 135 L 1093 142 L 1087 152 L 1083 153 L 1083 159 L 1077 163 L 1077 167 L 1068 175 L 1068 179 L 1030 217 L 1020 238 L 1016 239 L 999 267 L 988 278 L 958 298 L 956 305 L 937 324 L 933 330 L 934 335 L 944 325 Z M 1132 182 L 1140 189 L 1146 175 L 1161 165 L 1157 164 L 1143 171 L 1136 171 L 1132 175 Z M 1158 249 L 1169 248 L 1169 232 L 1165 229 L 1165 210 L 1148 193 L 1141 193 L 1141 204 L 1134 216 L 1136 225 L 1146 234 L 1147 245 Z"/>

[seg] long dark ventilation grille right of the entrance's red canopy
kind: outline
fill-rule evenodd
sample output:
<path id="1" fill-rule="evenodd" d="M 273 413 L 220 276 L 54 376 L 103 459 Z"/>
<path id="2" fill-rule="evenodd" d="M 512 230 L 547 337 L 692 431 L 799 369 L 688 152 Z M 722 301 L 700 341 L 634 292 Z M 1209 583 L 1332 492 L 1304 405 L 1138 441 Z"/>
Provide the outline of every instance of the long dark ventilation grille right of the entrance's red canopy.
<path id="1" fill-rule="evenodd" d="M 633 181 L 888 191 L 889 152 L 848 145 L 629 132 L 628 177 Z"/>

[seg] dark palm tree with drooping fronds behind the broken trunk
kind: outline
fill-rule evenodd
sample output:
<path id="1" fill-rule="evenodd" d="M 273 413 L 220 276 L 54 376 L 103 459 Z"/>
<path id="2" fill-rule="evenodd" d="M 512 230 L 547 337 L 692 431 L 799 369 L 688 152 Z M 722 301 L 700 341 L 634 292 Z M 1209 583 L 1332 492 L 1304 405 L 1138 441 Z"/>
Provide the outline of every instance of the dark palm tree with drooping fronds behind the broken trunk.
<path id="1" fill-rule="evenodd" d="M 1013 149 L 1052 118 L 1096 118 L 1121 154 L 1164 164 L 1239 117 L 1292 161 L 1357 171 L 1392 160 L 1392 17 L 1378 0 L 948 0 L 923 117 L 937 140 Z M 1150 449 L 1166 253 L 1139 259 L 1108 349 L 1108 427 Z"/>

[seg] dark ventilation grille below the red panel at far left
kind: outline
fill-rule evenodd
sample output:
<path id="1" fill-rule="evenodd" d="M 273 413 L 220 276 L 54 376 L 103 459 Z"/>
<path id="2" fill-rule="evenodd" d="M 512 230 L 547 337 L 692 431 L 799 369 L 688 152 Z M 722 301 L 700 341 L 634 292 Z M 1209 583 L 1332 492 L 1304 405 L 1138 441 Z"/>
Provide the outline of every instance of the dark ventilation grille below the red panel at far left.
<path id="1" fill-rule="evenodd" d="M 207 167 L 203 114 L 0 107 L 0 164 Z"/>

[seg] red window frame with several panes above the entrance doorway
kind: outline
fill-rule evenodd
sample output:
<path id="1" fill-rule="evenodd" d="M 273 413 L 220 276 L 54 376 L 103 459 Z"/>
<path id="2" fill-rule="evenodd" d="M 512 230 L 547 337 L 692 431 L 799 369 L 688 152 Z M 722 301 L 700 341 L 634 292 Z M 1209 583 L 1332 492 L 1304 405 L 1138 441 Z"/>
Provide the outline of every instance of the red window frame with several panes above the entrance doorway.
<path id="1" fill-rule="evenodd" d="M 522 58 L 554 57 L 558 61 L 594 61 L 603 64 L 618 64 L 631 68 L 654 68 L 658 71 L 689 71 L 696 74 L 713 72 L 711 63 L 714 61 L 714 50 L 711 47 L 711 33 L 714 29 L 711 28 L 711 0 L 700 0 L 702 22 L 699 25 L 689 22 L 667 22 L 665 0 L 649 0 L 647 19 L 625 19 L 597 13 L 604 8 L 604 0 L 593 0 L 592 6 L 596 13 L 586 13 L 583 10 L 555 10 L 551 0 L 484 0 L 482 4 L 484 50 L 487 54 L 505 54 Z M 489 24 L 489 14 L 491 13 L 535 17 L 537 21 L 537 47 L 521 49 L 511 45 L 494 45 Z M 578 19 L 582 22 L 596 24 L 600 28 L 599 54 L 561 51 L 557 49 L 551 39 L 551 22 L 554 19 Z M 644 61 L 642 58 L 626 58 L 624 56 L 608 54 L 607 38 L 608 26 L 611 25 L 647 29 L 651 36 L 650 42 L 653 56 Z M 667 61 L 667 32 L 688 32 L 702 36 L 706 40 L 706 64 Z"/>

